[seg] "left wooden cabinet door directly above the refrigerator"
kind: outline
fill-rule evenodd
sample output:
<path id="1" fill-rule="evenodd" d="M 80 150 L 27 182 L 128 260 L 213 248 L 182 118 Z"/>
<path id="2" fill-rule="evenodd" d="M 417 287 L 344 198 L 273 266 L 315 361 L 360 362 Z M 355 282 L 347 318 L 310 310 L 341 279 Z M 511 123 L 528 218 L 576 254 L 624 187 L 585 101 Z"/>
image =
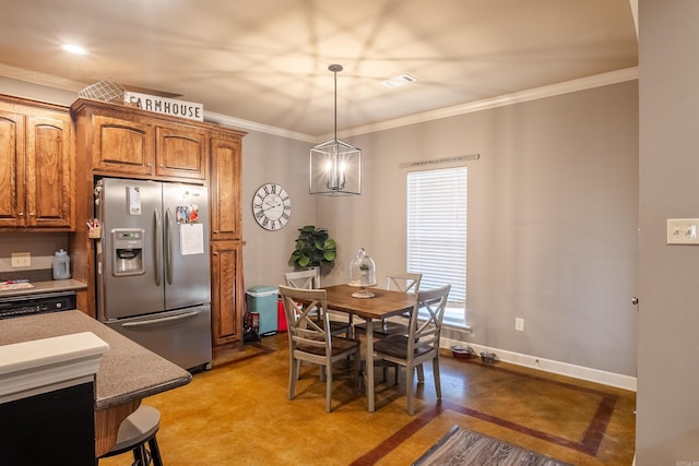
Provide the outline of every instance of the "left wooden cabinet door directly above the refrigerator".
<path id="1" fill-rule="evenodd" d="M 92 118 L 92 162 L 96 171 L 155 175 L 153 127 L 102 115 Z"/>

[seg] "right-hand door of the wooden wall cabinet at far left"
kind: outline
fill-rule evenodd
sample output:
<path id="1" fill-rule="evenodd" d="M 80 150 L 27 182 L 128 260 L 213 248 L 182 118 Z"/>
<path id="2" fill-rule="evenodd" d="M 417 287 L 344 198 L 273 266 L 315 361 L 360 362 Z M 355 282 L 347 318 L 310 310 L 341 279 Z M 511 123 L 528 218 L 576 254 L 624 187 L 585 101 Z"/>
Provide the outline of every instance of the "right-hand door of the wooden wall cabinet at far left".
<path id="1" fill-rule="evenodd" d="M 70 227 L 74 186 L 70 116 L 29 116 L 26 132 L 27 226 Z"/>

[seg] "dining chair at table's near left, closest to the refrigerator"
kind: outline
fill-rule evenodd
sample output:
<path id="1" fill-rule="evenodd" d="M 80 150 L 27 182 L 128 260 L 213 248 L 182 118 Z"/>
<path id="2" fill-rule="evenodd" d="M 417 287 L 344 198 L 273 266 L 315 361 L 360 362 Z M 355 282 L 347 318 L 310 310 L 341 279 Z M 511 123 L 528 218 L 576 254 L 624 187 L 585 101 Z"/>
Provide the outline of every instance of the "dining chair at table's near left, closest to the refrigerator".
<path id="1" fill-rule="evenodd" d="M 284 312 L 288 325 L 289 379 L 288 399 L 296 396 L 296 381 L 300 377 L 300 362 L 307 361 L 324 368 L 325 411 L 332 410 L 332 368 L 335 361 L 352 358 L 354 377 L 359 386 L 359 340 L 333 336 L 330 332 L 328 301 L 324 289 L 292 288 L 280 285 Z M 320 312 L 317 312 L 320 310 Z M 318 319 L 320 316 L 320 319 Z"/>

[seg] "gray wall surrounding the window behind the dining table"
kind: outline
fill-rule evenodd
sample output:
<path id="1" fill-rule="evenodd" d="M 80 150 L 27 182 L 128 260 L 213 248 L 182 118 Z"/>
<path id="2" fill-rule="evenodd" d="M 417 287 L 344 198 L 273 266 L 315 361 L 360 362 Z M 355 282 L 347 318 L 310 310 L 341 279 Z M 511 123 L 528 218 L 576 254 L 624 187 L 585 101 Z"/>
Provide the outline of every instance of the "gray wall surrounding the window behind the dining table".
<path id="1" fill-rule="evenodd" d="M 408 160 L 469 165 L 467 312 L 478 345 L 636 377 L 638 82 L 354 138 L 360 198 L 319 198 L 348 278 L 359 247 L 377 276 L 405 267 Z M 514 318 L 524 332 L 514 331 Z"/>

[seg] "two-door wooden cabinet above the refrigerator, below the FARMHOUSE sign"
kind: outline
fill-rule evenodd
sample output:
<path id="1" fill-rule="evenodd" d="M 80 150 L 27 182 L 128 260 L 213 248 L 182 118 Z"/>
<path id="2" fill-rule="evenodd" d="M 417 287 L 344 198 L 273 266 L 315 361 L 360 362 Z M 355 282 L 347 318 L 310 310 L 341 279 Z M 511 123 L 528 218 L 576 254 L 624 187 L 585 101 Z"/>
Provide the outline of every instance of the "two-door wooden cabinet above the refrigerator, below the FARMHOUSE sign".
<path id="1" fill-rule="evenodd" d="M 206 128 L 102 101 L 81 99 L 71 108 L 85 132 L 95 175 L 206 180 Z"/>

